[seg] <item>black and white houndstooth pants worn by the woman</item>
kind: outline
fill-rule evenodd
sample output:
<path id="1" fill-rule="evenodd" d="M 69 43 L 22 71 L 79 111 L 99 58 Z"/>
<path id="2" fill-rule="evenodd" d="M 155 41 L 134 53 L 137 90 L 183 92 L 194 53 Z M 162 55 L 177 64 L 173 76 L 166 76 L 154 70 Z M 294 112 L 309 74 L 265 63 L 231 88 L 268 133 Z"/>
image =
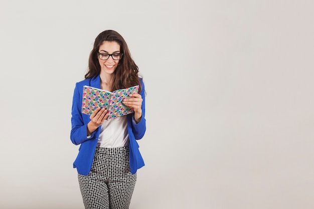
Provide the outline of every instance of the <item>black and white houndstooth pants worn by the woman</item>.
<path id="1" fill-rule="evenodd" d="M 96 147 L 91 171 L 78 174 L 86 209 L 127 209 L 136 182 L 131 174 L 129 147 Z"/>

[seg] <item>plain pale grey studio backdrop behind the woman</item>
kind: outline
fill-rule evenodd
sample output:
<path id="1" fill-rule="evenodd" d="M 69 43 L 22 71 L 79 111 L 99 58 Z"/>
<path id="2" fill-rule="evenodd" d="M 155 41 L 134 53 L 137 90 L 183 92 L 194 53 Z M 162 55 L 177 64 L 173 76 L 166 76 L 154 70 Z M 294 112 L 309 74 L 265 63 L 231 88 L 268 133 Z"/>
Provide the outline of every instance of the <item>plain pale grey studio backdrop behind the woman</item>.
<path id="1" fill-rule="evenodd" d="M 72 96 L 112 29 L 147 93 L 131 209 L 314 208 L 313 6 L 1 1 L 0 207 L 84 207 Z"/>

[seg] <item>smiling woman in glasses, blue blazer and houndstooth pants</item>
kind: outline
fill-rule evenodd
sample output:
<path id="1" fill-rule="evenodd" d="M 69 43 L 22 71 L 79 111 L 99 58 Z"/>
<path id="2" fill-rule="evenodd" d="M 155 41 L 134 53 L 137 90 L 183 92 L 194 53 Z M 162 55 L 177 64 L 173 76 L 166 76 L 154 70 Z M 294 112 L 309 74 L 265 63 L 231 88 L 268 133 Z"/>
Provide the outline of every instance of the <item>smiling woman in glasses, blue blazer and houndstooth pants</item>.
<path id="1" fill-rule="evenodd" d="M 123 101 L 133 113 L 109 120 L 104 108 L 82 114 L 84 85 L 111 92 L 139 85 L 138 93 Z M 146 130 L 144 94 L 138 67 L 122 36 L 112 30 L 100 33 L 89 55 L 85 80 L 76 83 L 72 104 L 71 141 L 80 144 L 73 167 L 85 208 L 129 207 L 136 170 L 144 165 L 136 142 Z"/>

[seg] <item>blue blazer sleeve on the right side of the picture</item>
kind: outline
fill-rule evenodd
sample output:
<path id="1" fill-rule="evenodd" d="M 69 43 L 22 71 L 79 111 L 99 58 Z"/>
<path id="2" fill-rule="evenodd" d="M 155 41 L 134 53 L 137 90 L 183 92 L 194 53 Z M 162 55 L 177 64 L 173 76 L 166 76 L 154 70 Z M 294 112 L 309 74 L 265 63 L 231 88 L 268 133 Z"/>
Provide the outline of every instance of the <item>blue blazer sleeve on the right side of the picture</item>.
<path id="1" fill-rule="evenodd" d="M 140 119 L 140 121 L 136 124 L 134 120 L 132 120 L 132 131 L 134 134 L 134 137 L 136 140 L 141 139 L 146 131 L 146 119 L 145 119 L 145 87 L 144 87 L 144 83 L 143 80 L 140 78 L 139 79 L 140 85 L 141 85 L 141 92 L 140 95 L 143 99 L 142 101 L 142 117 Z"/>

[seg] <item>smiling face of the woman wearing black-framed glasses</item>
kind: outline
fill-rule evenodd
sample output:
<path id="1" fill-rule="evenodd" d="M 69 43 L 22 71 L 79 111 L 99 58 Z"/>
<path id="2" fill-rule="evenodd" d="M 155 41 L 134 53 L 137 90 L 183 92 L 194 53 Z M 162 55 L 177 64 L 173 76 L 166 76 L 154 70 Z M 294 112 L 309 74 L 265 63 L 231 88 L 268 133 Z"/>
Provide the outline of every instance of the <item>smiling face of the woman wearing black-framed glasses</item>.
<path id="1" fill-rule="evenodd" d="M 117 42 L 104 41 L 102 45 L 100 45 L 98 53 L 99 54 L 121 53 L 120 45 Z M 107 60 L 101 60 L 98 56 L 98 61 L 101 68 L 100 74 L 103 74 L 103 73 L 112 74 L 115 71 L 119 63 L 119 60 L 112 59 L 112 56 L 109 56 Z"/>

